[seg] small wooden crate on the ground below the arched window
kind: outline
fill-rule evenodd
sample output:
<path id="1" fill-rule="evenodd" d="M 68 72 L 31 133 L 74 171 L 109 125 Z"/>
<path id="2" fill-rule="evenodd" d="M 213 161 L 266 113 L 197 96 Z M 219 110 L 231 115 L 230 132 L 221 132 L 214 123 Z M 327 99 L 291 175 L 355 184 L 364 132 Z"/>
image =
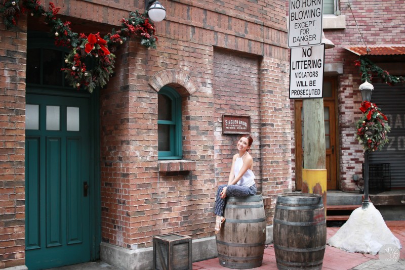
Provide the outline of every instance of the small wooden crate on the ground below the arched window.
<path id="1" fill-rule="evenodd" d="M 153 237 L 153 269 L 192 270 L 191 237 L 178 234 Z"/>

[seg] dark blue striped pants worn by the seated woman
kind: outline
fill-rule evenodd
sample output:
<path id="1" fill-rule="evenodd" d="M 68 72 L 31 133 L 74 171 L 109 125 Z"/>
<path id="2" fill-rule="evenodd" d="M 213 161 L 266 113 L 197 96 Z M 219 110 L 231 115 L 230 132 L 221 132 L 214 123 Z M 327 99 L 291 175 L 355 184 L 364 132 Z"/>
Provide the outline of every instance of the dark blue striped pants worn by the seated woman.
<path id="1" fill-rule="evenodd" d="M 224 212 L 224 207 L 225 207 L 225 200 L 228 196 L 232 197 L 247 197 L 247 196 L 252 196 L 256 195 L 257 188 L 256 185 L 253 185 L 250 188 L 244 187 L 244 186 L 238 186 L 238 185 L 230 185 L 226 188 L 226 197 L 225 199 L 222 199 L 221 192 L 222 190 L 228 185 L 221 185 L 218 187 L 217 191 L 217 197 L 215 199 L 215 214 L 222 216 Z"/>

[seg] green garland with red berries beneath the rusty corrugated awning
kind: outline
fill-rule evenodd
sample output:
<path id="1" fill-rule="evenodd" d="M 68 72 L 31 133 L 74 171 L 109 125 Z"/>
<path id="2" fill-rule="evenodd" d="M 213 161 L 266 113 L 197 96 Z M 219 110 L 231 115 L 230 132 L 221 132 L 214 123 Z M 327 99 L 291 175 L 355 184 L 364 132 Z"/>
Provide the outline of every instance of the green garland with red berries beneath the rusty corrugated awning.
<path id="1" fill-rule="evenodd" d="M 405 77 L 390 75 L 388 71 L 378 67 L 365 55 L 360 56 L 359 60 L 354 61 L 354 65 L 360 67 L 361 81 L 363 82 L 368 81 L 371 83 L 371 80 L 373 79 L 373 74 L 376 74 L 388 85 L 405 83 Z"/>

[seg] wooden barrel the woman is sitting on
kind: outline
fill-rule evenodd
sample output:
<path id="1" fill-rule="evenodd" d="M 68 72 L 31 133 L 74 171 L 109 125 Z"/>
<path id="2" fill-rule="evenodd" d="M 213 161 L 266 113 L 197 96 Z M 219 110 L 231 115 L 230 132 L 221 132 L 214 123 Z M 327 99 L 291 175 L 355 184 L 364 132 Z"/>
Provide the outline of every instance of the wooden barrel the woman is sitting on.
<path id="1" fill-rule="evenodd" d="M 266 242 L 266 216 L 261 194 L 228 197 L 225 222 L 216 235 L 219 263 L 234 269 L 262 265 Z"/>

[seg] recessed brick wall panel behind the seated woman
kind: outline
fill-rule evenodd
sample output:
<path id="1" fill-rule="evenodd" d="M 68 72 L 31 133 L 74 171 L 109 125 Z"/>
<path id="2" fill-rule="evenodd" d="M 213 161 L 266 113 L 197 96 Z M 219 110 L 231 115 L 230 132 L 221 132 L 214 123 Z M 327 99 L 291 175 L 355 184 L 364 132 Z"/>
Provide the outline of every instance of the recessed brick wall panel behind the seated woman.
<path id="1" fill-rule="evenodd" d="M 216 186 L 227 184 L 232 157 L 240 135 L 222 134 L 222 115 L 251 117 L 254 143 L 250 153 L 258 190 L 261 191 L 260 78 L 261 58 L 226 50 L 214 51 L 214 128 Z"/>

